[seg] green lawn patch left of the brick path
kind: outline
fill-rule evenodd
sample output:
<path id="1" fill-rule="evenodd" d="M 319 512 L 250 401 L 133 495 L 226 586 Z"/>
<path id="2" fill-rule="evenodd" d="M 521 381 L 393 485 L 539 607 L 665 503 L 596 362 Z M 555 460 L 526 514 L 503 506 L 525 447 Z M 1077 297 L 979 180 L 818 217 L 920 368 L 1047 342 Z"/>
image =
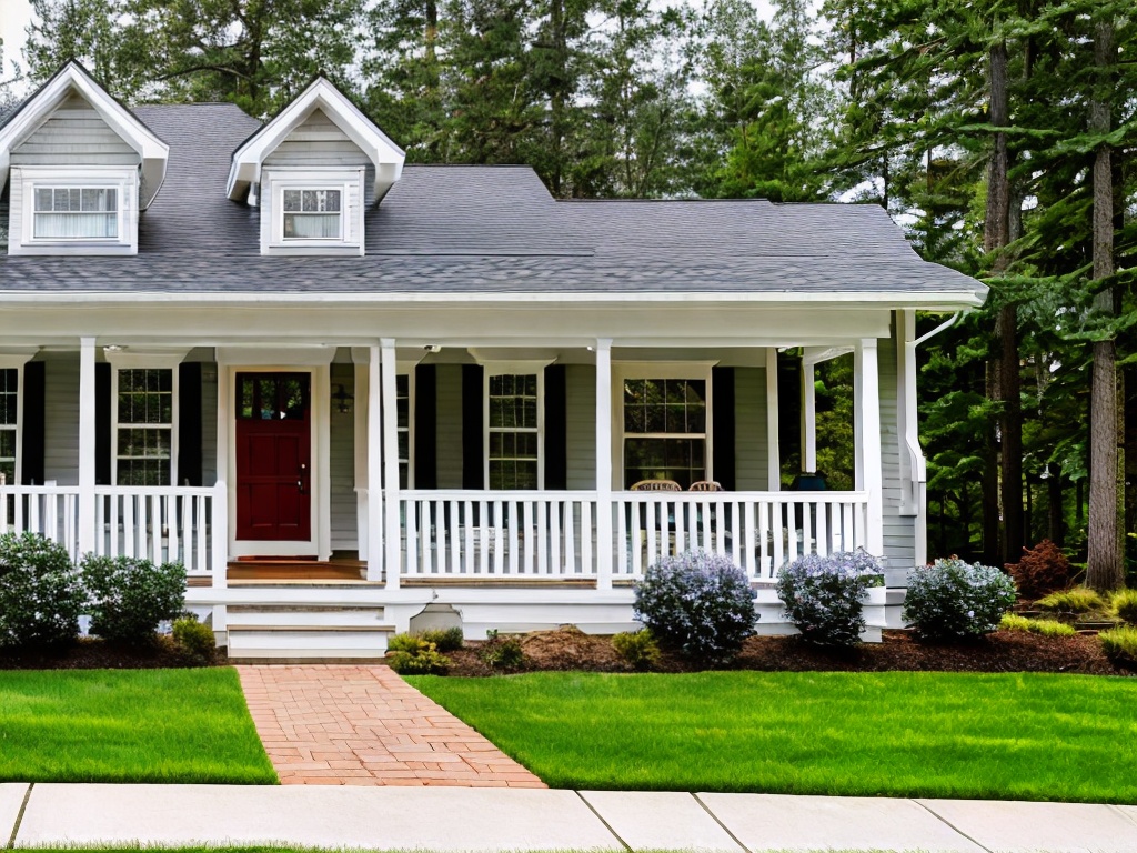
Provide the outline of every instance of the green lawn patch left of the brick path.
<path id="1" fill-rule="evenodd" d="M 275 785 L 232 669 L 0 671 L 0 781 Z"/>

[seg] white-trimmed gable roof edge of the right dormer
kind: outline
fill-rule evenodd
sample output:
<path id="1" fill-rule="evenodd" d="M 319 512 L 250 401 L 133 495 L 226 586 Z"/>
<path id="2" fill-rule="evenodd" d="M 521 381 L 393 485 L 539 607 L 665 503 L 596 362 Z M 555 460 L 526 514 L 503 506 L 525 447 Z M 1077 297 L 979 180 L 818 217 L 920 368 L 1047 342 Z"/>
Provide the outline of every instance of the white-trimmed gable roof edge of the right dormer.
<path id="1" fill-rule="evenodd" d="M 375 200 L 382 199 L 402 174 L 406 154 L 324 77 L 314 80 L 296 100 L 233 152 L 225 188 L 229 198 L 243 200 L 249 187 L 260 183 L 260 168 L 268 156 L 317 109 L 322 109 L 372 162 L 375 167 Z"/>

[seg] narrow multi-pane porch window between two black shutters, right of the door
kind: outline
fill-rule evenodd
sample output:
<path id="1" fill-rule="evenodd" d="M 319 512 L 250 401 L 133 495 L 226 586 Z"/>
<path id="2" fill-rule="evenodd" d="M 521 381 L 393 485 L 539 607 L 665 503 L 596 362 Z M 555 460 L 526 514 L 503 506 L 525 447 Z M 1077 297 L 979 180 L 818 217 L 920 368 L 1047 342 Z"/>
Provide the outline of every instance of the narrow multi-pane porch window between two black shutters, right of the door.
<path id="1" fill-rule="evenodd" d="M 491 489 L 543 488 L 541 471 L 540 373 L 487 376 Z"/>

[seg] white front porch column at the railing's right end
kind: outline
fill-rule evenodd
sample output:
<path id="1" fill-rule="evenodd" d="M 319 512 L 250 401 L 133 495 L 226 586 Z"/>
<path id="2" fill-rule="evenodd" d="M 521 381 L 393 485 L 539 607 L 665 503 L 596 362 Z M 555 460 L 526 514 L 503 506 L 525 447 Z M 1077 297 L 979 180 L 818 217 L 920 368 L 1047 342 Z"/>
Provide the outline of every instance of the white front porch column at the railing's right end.
<path id="1" fill-rule="evenodd" d="M 877 557 L 885 554 L 885 506 L 881 489 L 880 373 L 877 339 L 862 338 L 854 353 L 856 488 L 868 492 L 865 549 Z"/>

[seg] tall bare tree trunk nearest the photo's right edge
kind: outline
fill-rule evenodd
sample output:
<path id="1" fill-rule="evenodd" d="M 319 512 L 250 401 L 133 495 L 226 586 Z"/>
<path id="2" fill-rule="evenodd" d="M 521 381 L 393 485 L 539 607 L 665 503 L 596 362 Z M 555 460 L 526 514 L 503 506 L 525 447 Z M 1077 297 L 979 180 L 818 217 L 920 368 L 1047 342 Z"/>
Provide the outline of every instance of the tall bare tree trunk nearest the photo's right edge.
<path id="1" fill-rule="evenodd" d="M 1089 102 L 1089 130 L 1110 131 L 1112 77 L 1117 63 L 1113 23 L 1094 27 L 1094 65 L 1097 78 Z M 1113 171 L 1111 147 L 1102 143 L 1094 156 L 1094 279 L 1112 278 L 1113 267 Z M 1094 298 L 1098 316 L 1114 313 L 1113 288 L 1105 287 Z M 1118 379 L 1112 337 L 1094 343 L 1094 371 L 1089 413 L 1089 530 L 1086 583 L 1099 591 L 1118 589 L 1124 582 L 1121 539 L 1118 531 Z"/>

